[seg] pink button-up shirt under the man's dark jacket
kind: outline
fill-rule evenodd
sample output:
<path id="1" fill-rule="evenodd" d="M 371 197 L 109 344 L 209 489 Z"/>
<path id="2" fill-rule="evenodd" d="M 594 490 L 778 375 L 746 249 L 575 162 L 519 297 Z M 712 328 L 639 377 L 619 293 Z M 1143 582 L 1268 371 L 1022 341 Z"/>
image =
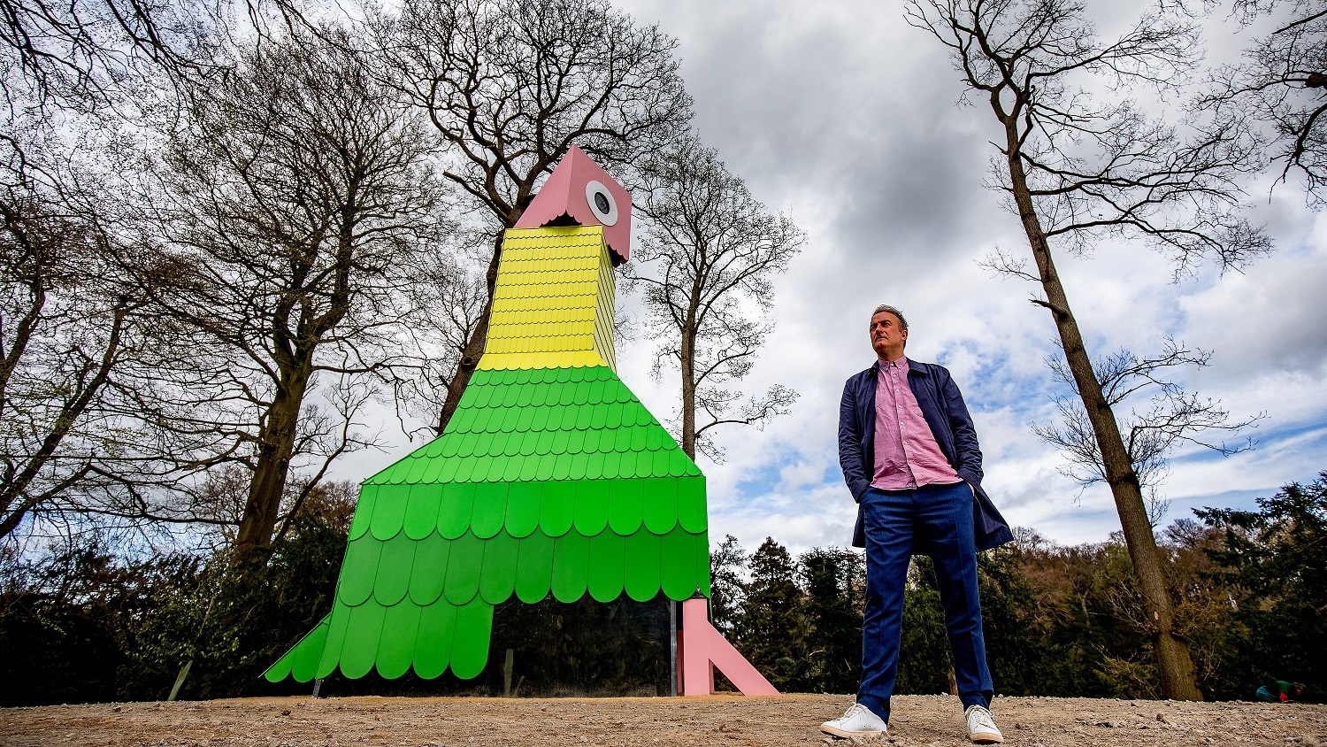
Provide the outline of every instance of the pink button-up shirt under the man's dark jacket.
<path id="1" fill-rule="evenodd" d="M 871 487 L 908 490 L 963 482 L 926 425 L 908 386 L 908 358 L 880 361 L 876 377 L 876 472 Z"/>

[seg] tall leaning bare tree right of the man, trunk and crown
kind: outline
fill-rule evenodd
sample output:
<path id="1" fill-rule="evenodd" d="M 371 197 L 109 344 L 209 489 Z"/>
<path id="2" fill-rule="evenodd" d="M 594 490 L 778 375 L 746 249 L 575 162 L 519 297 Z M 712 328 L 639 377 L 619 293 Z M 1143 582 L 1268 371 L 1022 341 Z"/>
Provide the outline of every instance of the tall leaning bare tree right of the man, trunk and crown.
<path id="1" fill-rule="evenodd" d="M 993 159 L 1027 235 L 1035 269 L 993 265 L 1038 283 L 1074 387 L 1100 450 L 1149 620 L 1161 691 L 1201 699 L 1177 634 L 1165 565 L 1111 393 L 1092 368 L 1055 267 L 1051 243 L 1085 252 L 1101 239 L 1143 239 L 1176 273 L 1205 260 L 1222 269 L 1267 252 L 1265 234 L 1239 215 L 1239 179 L 1254 149 L 1238 118 L 1178 127 L 1147 117 L 1123 96 L 1132 84 L 1165 89 L 1197 60 L 1198 29 L 1182 13 L 1148 12 L 1103 41 L 1076 0 L 909 0 L 906 19 L 950 50 L 967 94 L 1001 126 Z M 1119 94 L 1099 101 L 1087 86 Z M 966 94 L 965 94 L 966 96 Z"/>

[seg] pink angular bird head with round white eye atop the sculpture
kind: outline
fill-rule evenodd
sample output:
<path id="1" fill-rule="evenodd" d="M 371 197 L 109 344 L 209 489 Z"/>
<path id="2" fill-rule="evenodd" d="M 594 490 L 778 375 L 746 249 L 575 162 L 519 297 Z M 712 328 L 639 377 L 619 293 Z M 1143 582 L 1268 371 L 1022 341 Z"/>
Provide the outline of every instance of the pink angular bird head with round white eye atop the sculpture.
<path id="1" fill-rule="evenodd" d="M 568 219 L 581 226 L 602 226 L 614 265 L 632 259 L 632 192 L 576 146 L 567 149 L 516 228 L 564 226 Z"/>

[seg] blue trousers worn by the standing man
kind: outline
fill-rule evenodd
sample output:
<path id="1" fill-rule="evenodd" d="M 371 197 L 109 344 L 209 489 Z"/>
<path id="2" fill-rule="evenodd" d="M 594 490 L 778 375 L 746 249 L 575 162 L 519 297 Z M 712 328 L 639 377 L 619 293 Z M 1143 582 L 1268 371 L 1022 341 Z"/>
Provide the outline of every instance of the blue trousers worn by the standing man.
<path id="1" fill-rule="evenodd" d="M 867 532 L 867 610 L 861 633 L 857 702 L 889 720 L 898 678 L 904 586 L 912 556 L 936 565 L 945 632 L 963 709 L 989 707 L 994 686 L 986 667 L 982 605 L 977 596 L 973 491 L 967 483 L 906 491 L 867 488 L 861 495 Z"/>

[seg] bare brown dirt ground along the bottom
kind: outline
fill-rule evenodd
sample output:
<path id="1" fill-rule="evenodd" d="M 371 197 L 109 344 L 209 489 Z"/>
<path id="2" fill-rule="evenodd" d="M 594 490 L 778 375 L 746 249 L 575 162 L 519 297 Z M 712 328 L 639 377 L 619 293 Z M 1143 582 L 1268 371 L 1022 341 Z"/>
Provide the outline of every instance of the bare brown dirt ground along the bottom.
<path id="1" fill-rule="evenodd" d="M 966 744 L 958 699 L 894 698 L 886 740 L 836 740 L 847 695 L 742 698 L 249 698 L 0 709 L 0 746 Z M 1007 744 L 1327 746 L 1327 706 L 998 698 Z"/>

